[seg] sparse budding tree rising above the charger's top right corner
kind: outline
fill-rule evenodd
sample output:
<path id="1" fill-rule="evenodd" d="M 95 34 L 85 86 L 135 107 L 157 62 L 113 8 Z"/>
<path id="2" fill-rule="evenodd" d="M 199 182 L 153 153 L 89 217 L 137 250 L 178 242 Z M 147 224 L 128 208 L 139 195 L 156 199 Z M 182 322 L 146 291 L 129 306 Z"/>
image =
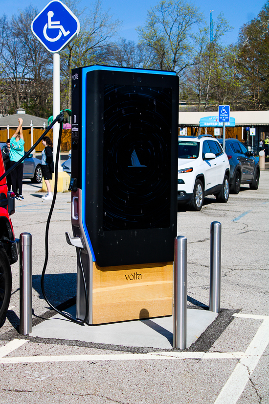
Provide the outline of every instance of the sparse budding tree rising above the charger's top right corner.
<path id="1" fill-rule="evenodd" d="M 199 9 L 186 0 L 162 0 L 138 27 L 139 44 L 151 54 L 148 67 L 182 72 L 193 64 L 193 29 L 202 23 Z"/>

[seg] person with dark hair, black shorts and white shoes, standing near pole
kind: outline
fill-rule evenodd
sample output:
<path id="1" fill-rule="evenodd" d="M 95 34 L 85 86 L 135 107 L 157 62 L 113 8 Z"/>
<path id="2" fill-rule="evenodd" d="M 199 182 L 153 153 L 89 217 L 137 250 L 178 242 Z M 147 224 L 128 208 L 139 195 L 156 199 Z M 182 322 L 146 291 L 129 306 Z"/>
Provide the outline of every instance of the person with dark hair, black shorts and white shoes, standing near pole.
<path id="1" fill-rule="evenodd" d="M 45 184 L 47 187 L 47 194 L 42 196 L 43 201 L 50 201 L 52 200 L 52 192 L 51 192 L 51 185 L 49 180 L 52 180 L 52 173 L 54 172 L 54 163 L 53 163 L 53 147 L 52 142 L 48 136 L 45 136 L 42 140 L 45 149 L 42 151 L 42 159 L 41 159 L 41 167 L 42 167 L 42 174 L 45 180 Z"/>

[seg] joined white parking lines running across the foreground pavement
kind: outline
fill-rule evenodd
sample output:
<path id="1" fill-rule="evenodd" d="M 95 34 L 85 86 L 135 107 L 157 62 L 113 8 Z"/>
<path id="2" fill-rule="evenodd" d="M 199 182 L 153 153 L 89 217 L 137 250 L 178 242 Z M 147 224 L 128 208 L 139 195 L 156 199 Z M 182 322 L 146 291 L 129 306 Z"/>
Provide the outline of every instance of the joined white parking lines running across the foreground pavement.
<path id="1" fill-rule="evenodd" d="M 3 357 L 22 346 L 27 340 L 13 340 L 0 348 L 0 363 L 78 362 L 111 360 L 180 360 L 180 359 L 240 359 L 224 384 L 214 404 L 236 404 L 248 380 L 269 344 L 269 316 L 235 313 L 234 317 L 263 320 L 246 352 L 158 352 L 148 354 L 61 355 Z"/>

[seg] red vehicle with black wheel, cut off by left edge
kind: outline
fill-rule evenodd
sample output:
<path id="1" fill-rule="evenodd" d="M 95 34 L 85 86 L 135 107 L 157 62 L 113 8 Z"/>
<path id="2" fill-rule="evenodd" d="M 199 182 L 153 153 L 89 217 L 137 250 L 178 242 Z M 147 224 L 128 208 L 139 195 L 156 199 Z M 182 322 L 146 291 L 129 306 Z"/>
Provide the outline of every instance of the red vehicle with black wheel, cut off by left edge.
<path id="1" fill-rule="evenodd" d="M 0 153 L 0 176 L 4 174 Z M 18 240 L 15 239 L 11 214 L 15 213 L 15 194 L 7 189 L 6 179 L 0 182 L 0 327 L 5 322 L 11 296 L 11 267 L 18 261 Z M 19 244 L 18 244 L 19 246 Z"/>

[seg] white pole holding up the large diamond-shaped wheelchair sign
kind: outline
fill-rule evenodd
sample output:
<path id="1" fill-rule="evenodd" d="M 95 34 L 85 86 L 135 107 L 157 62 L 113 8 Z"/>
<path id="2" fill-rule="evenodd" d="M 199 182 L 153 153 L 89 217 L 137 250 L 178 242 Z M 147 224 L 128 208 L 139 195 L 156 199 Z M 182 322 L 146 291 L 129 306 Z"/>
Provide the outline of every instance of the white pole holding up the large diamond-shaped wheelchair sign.
<path id="1" fill-rule="evenodd" d="M 60 53 L 53 53 L 53 119 L 60 114 Z M 56 122 L 53 126 L 53 161 L 54 172 L 58 171 L 56 167 L 56 153 L 59 139 L 60 125 Z"/>

